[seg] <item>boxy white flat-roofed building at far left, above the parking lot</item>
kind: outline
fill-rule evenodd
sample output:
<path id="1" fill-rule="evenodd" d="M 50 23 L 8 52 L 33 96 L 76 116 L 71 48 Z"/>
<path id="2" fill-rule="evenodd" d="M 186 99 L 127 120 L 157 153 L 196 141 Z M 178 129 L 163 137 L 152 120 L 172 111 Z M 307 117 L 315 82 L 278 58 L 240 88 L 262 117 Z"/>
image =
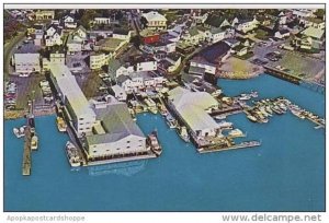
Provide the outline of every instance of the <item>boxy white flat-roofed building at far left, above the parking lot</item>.
<path id="1" fill-rule="evenodd" d="M 30 74 L 41 72 L 39 54 L 14 54 L 12 63 L 16 73 Z"/>

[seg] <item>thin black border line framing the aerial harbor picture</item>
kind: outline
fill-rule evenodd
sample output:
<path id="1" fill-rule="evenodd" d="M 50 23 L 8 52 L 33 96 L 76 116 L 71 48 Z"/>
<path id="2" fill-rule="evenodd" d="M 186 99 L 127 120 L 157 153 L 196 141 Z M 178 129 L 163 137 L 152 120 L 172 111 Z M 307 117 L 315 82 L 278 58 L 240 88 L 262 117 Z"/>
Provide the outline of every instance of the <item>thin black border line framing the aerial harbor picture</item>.
<path id="1" fill-rule="evenodd" d="M 172 3 L 172 2 L 169 2 L 169 3 L 164 3 L 164 2 L 162 2 L 162 3 L 141 3 L 141 2 L 137 2 L 137 3 L 134 3 L 134 2 L 132 2 L 132 3 L 100 3 L 100 2 L 95 2 L 95 3 L 88 3 L 88 2 L 76 2 L 76 3 L 56 3 L 56 2 L 54 2 L 54 3 L 30 3 L 30 2 L 27 2 L 27 3 L 25 3 L 25 2 L 22 2 L 22 3 L 18 3 L 18 2 L 13 2 L 13 3 L 11 3 L 11 2 L 8 2 L 8 3 L 2 3 L 2 7 L 3 7 L 3 11 L 5 10 L 5 8 L 4 8 L 4 5 L 5 4 L 25 4 L 25 5 L 29 5 L 29 4 L 31 4 L 31 5 L 35 5 L 35 4 L 43 4 L 43 5 L 45 5 L 45 4 L 107 4 L 107 5 L 113 5 L 113 4 L 115 4 L 115 5 L 129 5 L 129 4 L 140 4 L 140 5 L 157 5 L 157 4 L 177 4 L 177 5 L 191 5 L 191 4 L 193 4 L 193 5 L 209 5 L 209 4 L 212 4 L 212 5 L 216 5 L 216 4 L 218 4 L 218 5 L 220 5 L 220 4 L 226 4 L 226 5 L 229 5 L 229 4 L 234 4 L 234 5 L 237 5 L 237 4 L 245 4 L 245 5 L 247 5 L 247 4 L 251 4 L 251 5 L 256 5 L 256 4 L 277 4 L 277 5 L 280 5 L 280 4 L 291 4 L 291 5 L 296 5 L 296 9 L 298 9 L 298 5 L 299 4 L 303 4 L 303 5 L 307 5 L 307 4 L 309 4 L 309 5 L 314 5 L 314 4 L 325 4 L 325 17 L 326 17 L 326 27 L 325 28 L 327 28 L 327 2 L 320 2 L 320 3 L 304 3 L 304 2 L 300 2 L 300 3 L 269 3 L 269 2 L 263 2 L 263 3 L 248 3 L 248 2 L 246 2 L 246 3 L 242 3 L 242 2 L 240 2 L 240 3 L 237 3 L 237 2 L 231 2 L 231 3 L 208 3 L 208 2 L 205 2 L 205 3 Z M 33 9 L 33 8 L 32 8 Z M 46 10 L 47 8 L 44 8 L 44 10 Z M 83 9 L 83 8 L 81 8 L 81 9 Z M 132 9 L 134 9 L 134 8 L 132 8 Z M 143 8 L 139 8 L 139 9 L 143 9 Z M 183 8 L 182 8 L 183 9 Z M 189 9 L 189 8 L 185 8 L 185 9 Z M 207 8 L 201 8 L 201 9 L 207 9 Z M 220 8 L 218 8 L 218 9 L 220 9 Z M 247 8 L 246 8 L 247 9 Z M 270 9 L 270 8 L 269 8 Z M 276 9 L 276 8 L 272 8 L 272 9 Z M 55 9 L 55 10 L 60 10 L 60 9 Z M 95 9 L 97 10 L 97 9 Z M 2 28 L 4 27 L 4 20 L 2 21 Z M 326 31 L 326 30 L 325 30 Z M 4 43 L 4 31 L 3 31 L 3 43 Z M 326 38 L 326 37 L 325 37 Z M 327 50 L 327 38 L 326 38 L 326 50 Z M 325 50 L 325 51 L 326 51 Z M 326 56 L 325 56 L 325 85 L 327 85 L 327 81 L 326 81 L 326 79 L 327 79 L 327 77 L 326 77 L 326 74 L 327 74 L 327 51 L 326 51 L 326 54 L 325 54 Z M 3 45 L 3 50 L 2 50 L 2 59 L 3 59 L 3 61 L 4 61 L 4 45 Z M 2 61 L 2 62 L 3 62 Z M 4 67 L 3 67 L 3 69 L 4 69 Z M 4 84 L 4 75 L 2 75 L 2 84 Z M 4 85 L 3 85 L 4 86 Z M 3 92 L 1 93 L 1 94 L 3 94 Z M 327 97 L 327 86 L 325 86 L 325 116 L 326 116 L 326 119 L 327 119 L 327 103 L 326 103 L 326 97 Z M 3 188 L 3 201 L 2 201 L 2 204 L 3 204 L 3 208 L 2 208 L 2 212 L 3 213 L 26 213 L 26 212 L 32 212 L 32 213 L 58 213 L 58 212 L 63 212 L 63 213 L 93 213 L 93 212 L 101 212 L 101 213 L 103 213 L 103 212 L 109 212 L 109 213 L 113 213 L 113 212 L 133 212 L 133 213 L 135 213 L 135 212 L 144 212 L 144 213 L 147 213 L 147 212 L 159 212 L 159 213 L 166 213 L 166 212 L 206 212 L 206 213 L 213 213 L 213 212 L 218 212 L 218 213 L 220 213 L 220 212 L 223 212 L 223 213 L 227 213 L 227 212 L 232 212 L 232 213 L 240 213 L 240 212 L 246 212 L 246 213 L 259 213 L 259 212 L 269 212 L 269 213 L 279 213 L 279 212 L 283 212 L 283 213 L 287 213 L 287 212 L 295 212 L 295 213 L 306 213 L 306 212 L 309 212 L 309 213 L 326 213 L 326 210 L 327 210 L 327 163 L 326 163 L 326 155 L 327 155 L 327 151 L 326 151 L 326 143 L 327 143 L 327 128 L 325 129 L 325 210 L 324 211 L 268 211 L 268 210 L 258 210 L 258 211 L 204 211 L 204 210 L 198 210 L 198 211 L 4 211 L 4 105 L 2 104 L 2 106 L 3 106 L 3 108 L 2 108 L 2 110 L 3 110 L 3 132 L 2 132 L 2 137 L 3 137 L 3 151 L 2 151 L 2 156 L 3 156 L 3 171 L 2 171 L 2 175 L 3 175 L 3 184 L 2 184 L 2 188 Z"/>

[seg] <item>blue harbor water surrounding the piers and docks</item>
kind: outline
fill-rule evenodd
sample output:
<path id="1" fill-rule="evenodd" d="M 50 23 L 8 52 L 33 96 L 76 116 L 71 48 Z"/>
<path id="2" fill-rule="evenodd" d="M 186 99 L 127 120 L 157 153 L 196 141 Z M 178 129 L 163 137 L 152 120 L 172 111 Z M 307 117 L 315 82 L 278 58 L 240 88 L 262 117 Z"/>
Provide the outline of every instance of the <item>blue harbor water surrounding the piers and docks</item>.
<path id="1" fill-rule="evenodd" d="M 285 96 L 319 115 L 324 95 L 263 75 L 248 81 L 219 80 L 227 95 L 257 90 L 260 97 Z M 268 124 L 228 118 L 262 140 L 254 149 L 198 154 L 167 128 L 160 115 L 139 115 L 145 133 L 158 129 L 159 159 L 71 171 L 55 116 L 36 118 L 39 150 L 32 175 L 21 175 L 23 140 L 4 122 L 5 211 L 324 211 L 325 131 L 291 114 Z"/>

